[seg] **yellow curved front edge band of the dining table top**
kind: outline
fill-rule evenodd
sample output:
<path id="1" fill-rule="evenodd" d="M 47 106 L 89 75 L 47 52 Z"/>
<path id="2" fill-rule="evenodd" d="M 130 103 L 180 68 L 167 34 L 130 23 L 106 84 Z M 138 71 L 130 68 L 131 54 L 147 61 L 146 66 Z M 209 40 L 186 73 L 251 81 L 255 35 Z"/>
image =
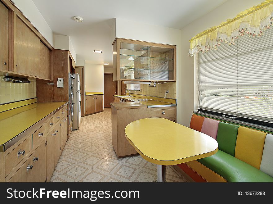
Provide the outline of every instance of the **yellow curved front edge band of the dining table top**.
<path id="1" fill-rule="evenodd" d="M 218 147 L 217 149 L 211 151 L 211 152 L 207 152 L 207 153 L 204 153 L 204 154 L 199 154 L 199 155 L 196 155 L 196 156 L 190 156 L 190 157 L 187 157 L 187 158 L 183 158 L 183 159 L 177 159 L 177 160 L 169 160 L 169 161 L 163 161 L 163 160 L 157 160 L 157 159 L 153 159 L 149 156 L 146 156 L 145 154 L 143 154 L 136 146 L 134 143 L 132 143 L 132 141 L 127 137 L 126 135 L 126 128 L 127 126 L 125 127 L 125 138 L 128 140 L 128 142 L 134 147 L 134 149 L 140 154 L 140 156 L 142 156 L 143 159 L 145 159 L 146 161 L 150 161 L 151 163 L 154 163 L 154 164 L 158 164 L 158 165 L 177 165 L 177 164 L 181 164 L 181 163 L 185 163 L 185 162 L 188 162 L 188 161 L 194 161 L 194 160 L 197 160 L 197 159 L 202 159 L 204 157 L 208 157 L 208 156 L 212 156 L 214 155 L 216 152 L 218 152 Z"/>

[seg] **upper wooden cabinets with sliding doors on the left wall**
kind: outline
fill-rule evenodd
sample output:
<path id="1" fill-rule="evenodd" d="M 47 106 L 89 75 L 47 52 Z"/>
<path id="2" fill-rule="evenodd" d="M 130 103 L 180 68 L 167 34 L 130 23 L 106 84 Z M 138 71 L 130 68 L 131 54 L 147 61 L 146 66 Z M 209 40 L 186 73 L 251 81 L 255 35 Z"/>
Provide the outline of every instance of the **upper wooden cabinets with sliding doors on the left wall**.
<path id="1" fill-rule="evenodd" d="M 0 74 L 53 80 L 53 47 L 11 0 L 0 0 Z"/>

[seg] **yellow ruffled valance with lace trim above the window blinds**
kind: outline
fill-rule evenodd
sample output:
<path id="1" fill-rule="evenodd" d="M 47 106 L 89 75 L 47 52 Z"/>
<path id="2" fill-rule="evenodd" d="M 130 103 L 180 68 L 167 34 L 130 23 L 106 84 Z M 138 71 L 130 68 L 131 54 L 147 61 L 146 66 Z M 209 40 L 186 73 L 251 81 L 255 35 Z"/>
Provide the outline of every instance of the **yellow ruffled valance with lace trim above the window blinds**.
<path id="1" fill-rule="evenodd" d="M 235 44 L 244 34 L 262 36 L 263 31 L 273 25 L 273 0 L 266 0 L 257 6 L 240 12 L 235 18 L 199 33 L 190 39 L 189 56 L 195 53 L 217 50 L 221 42 Z"/>

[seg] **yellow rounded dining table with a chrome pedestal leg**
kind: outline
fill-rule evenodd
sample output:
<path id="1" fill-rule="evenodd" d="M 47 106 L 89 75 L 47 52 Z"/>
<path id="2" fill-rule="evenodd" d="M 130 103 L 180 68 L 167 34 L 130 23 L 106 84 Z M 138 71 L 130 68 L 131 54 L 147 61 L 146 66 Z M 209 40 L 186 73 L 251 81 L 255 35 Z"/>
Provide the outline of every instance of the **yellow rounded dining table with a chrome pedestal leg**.
<path id="1" fill-rule="evenodd" d="M 165 182 L 166 165 L 211 156 L 218 151 L 212 137 L 164 118 L 145 118 L 128 124 L 125 136 L 147 161 L 157 164 L 157 182 Z"/>

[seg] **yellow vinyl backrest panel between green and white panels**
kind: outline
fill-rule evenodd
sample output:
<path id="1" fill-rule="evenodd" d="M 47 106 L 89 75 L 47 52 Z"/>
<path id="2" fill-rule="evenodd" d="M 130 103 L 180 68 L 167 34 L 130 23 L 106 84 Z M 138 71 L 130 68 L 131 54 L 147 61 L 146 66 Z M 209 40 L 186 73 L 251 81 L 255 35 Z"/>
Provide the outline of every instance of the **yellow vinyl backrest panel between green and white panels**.
<path id="1" fill-rule="evenodd" d="M 235 157 L 260 169 L 266 133 L 242 127 L 238 129 Z"/>

